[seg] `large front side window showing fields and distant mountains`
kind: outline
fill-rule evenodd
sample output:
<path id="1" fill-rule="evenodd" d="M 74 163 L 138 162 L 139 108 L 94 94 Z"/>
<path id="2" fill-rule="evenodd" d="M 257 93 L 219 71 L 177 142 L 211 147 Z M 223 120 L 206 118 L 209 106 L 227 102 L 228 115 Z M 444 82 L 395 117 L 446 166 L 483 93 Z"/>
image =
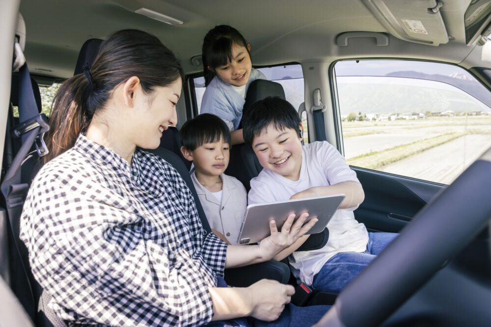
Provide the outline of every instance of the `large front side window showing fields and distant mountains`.
<path id="1" fill-rule="evenodd" d="M 491 146 L 491 95 L 464 69 L 407 60 L 334 65 L 350 165 L 450 184 Z"/>

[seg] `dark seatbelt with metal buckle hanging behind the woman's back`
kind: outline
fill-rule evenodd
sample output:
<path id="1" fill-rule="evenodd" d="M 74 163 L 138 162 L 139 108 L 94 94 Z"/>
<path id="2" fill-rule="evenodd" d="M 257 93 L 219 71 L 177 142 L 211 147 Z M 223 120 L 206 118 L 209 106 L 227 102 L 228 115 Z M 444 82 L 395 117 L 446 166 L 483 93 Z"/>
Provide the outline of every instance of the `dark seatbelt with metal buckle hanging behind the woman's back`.
<path id="1" fill-rule="evenodd" d="M 27 196 L 29 185 L 21 182 L 21 167 L 32 145 L 36 146 L 39 156 L 46 155 L 48 149 L 44 143 L 43 136 L 50 126 L 44 114 L 39 114 L 36 101 L 32 91 L 29 70 L 25 62 L 24 54 L 18 42 L 14 46 L 15 61 L 14 71 L 19 69 L 19 121 L 20 124 L 7 133 L 12 133 L 13 137 L 22 138 L 22 146 L 15 155 L 12 164 L 3 177 L 0 184 L 1 193 L 5 199 L 7 209 L 9 238 L 12 240 L 13 264 L 11 265 L 15 278 L 12 278 L 11 287 L 17 295 L 32 321 L 35 321 L 36 306 L 32 285 L 29 281 L 29 271 L 24 260 L 27 258 L 27 249 L 19 240 L 20 217 L 22 207 Z M 22 278 L 24 277 L 24 278 Z M 22 281 L 21 281 L 22 280 Z"/>

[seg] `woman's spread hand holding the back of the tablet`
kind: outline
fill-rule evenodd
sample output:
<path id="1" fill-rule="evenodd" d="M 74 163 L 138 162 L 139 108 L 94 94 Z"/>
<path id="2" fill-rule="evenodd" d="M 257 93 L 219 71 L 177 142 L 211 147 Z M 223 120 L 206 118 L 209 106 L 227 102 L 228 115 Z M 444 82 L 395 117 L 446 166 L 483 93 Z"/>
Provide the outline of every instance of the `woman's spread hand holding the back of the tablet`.
<path id="1" fill-rule="evenodd" d="M 295 220 L 295 214 L 289 215 L 285 224 L 281 227 L 281 231 L 278 231 L 274 220 L 270 221 L 271 236 L 266 237 L 259 243 L 261 256 L 265 260 L 270 260 L 305 235 L 318 221 L 317 218 L 313 218 L 302 227 L 307 217 L 308 213 L 306 212 L 302 213 L 297 220 Z"/>

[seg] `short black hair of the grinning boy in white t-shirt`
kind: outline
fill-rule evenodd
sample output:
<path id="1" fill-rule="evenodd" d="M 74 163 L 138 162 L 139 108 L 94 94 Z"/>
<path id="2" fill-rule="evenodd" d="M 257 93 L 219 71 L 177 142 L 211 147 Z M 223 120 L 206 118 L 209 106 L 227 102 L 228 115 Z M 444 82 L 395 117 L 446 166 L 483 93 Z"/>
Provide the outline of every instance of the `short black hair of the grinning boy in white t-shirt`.
<path id="1" fill-rule="evenodd" d="M 300 118 L 293 105 L 278 97 L 255 102 L 242 118 L 244 141 L 252 146 L 254 138 L 273 124 L 278 130 L 299 129 Z"/>

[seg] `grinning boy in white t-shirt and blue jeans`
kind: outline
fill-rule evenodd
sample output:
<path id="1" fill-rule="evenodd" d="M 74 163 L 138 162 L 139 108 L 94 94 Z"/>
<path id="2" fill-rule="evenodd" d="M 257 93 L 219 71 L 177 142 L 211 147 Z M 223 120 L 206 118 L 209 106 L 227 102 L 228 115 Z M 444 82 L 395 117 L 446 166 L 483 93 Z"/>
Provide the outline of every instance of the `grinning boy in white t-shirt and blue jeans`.
<path id="1" fill-rule="evenodd" d="M 340 210 L 327 224 L 326 246 L 289 256 L 297 279 L 318 290 L 340 292 L 397 234 L 368 233 L 355 220 L 353 210 L 364 199 L 356 173 L 327 142 L 302 147 L 302 124 L 288 101 L 258 101 L 242 123 L 244 140 L 264 168 L 250 182 L 249 204 L 345 194 Z M 280 254 L 285 257 L 300 245 Z"/>

